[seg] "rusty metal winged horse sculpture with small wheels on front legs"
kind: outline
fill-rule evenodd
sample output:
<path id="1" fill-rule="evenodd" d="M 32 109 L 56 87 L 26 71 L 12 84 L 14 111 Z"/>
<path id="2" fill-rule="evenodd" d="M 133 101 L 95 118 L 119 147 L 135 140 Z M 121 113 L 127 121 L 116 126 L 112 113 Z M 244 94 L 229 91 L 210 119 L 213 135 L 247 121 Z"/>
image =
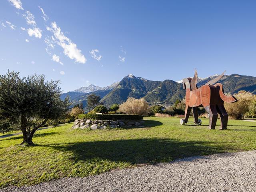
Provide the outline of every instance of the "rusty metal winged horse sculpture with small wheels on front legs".
<path id="1" fill-rule="evenodd" d="M 192 108 L 195 124 L 201 125 L 202 122 L 198 119 L 198 107 L 204 107 L 210 115 L 209 129 L 215 129 L 218 114 L 220 114 L 221 121 L 220 130 L 227 129 L 228 113 L 224 108 L 224 101 L 233 103 L 238 100 L 232 95 L 225 95 L 222 84 L 215 84 L 222 78 L 224 72 L 200 88 L 196 86 L 198 79 L 196 70 L 193 78 L 184 78 L 182 80 L 183 88 L 186 89 L 186 109 L 185 119 L 180 119 L 180 124 L 184 125 L 188 122 Z"/>

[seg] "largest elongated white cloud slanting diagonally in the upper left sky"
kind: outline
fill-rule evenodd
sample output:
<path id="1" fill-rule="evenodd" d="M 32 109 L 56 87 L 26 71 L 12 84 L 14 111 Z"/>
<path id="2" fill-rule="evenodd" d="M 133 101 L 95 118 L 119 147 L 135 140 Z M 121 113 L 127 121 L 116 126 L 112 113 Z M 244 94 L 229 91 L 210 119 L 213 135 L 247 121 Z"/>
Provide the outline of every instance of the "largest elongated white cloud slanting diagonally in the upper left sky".
<path id="1" fill-rule="evenodd" d="M 86 58 L 81 53 L 81 50 L 79 50 L 76 47 L 76 44 L 74 44 L 63 34 L 63 32 L 61 32 L 61 29 L 57 26 L 56 22 L 52 22 L 51 28 L 47 26 L 46 29 L 54 34 L 56 43 L 64 49 L 63 52 L 66 56 L 68 56 L 70 59 L 76 60 L 76 62 L 79 63 L 86 62 Z"/>

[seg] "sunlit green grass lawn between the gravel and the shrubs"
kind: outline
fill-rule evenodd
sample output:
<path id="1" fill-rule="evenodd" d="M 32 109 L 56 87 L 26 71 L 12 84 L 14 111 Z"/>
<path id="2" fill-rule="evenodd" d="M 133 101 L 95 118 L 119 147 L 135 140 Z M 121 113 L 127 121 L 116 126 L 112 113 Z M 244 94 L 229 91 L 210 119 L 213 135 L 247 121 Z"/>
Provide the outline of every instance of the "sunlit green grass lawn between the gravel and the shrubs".
<path id="1" fill-rule="evenodd" d="M 145 128 L 89 131 L 67 124 L 39 130 L 32 147 L 18 145 L 22 135 L 0 138 L 0 187 L 256 149 L 256 122 L 229 120 L 228 130 L 220 131 L 208 130 L 208 119 L 202 119 L 202 126 L 181 126 L 179 118 L 144 120 Z"/>

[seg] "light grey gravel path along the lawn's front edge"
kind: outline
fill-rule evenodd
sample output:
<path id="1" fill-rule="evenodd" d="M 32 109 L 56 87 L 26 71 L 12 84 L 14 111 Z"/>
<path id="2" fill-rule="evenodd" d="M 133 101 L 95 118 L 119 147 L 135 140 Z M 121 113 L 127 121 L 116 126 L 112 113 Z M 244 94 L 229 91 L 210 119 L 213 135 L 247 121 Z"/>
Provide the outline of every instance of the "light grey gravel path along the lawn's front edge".
<path id="1" fill-rule="evenodd" d="M 184 158 L 166 164 L 63 178 L 0 192 L 255 192 L 256 151 Z"/>

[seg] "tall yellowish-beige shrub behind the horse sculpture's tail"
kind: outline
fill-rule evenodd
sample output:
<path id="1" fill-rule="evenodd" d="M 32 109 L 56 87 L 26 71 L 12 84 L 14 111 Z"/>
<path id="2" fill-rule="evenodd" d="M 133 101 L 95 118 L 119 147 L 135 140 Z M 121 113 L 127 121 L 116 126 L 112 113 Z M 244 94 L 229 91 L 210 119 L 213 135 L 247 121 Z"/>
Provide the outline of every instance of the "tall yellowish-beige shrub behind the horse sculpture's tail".
<path id="1" fill-rule="evenodd" d="M 242 119 L 244 114 L 249 111 L 250 104 L 255 96 L 246 91 L 239 91 L 238 94 L 234 94 L 234 96 L 238 99 L 238 102 L 224 103 L 224 106 L 230 118 Z"/>

